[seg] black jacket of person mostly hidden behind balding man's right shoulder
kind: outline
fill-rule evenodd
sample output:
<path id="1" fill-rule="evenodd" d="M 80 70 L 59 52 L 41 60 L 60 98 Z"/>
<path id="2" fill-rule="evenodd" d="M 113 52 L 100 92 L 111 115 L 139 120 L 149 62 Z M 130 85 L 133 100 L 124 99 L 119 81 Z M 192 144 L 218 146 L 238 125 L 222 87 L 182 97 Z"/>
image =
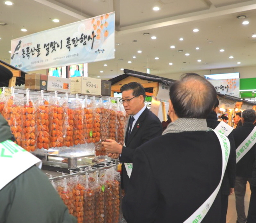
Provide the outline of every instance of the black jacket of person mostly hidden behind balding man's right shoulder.
<path id="1" fill-rule="evenodd" d="M 217 119 L 218 118 L 216 112 L 210 112 L 210 114 L 206 118 L 207 126 L 212 129 L 216 128 L 218 124 L 220 124 Z M 233 188 L 235 186 L 236 181 L 236 147 L 232 132 L 228 135 L 228 139 L 230 141 L 230 155 L 228 158 L 228 165 L 220 187 L 222 195 L 229 195 L 230 188 Z"/>

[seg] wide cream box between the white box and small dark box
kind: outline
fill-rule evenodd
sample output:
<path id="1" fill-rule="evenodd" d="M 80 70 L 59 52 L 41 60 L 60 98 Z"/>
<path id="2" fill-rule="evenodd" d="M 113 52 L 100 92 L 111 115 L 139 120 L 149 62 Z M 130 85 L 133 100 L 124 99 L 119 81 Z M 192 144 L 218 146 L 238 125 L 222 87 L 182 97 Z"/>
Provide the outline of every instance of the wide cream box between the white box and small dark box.
<path id="1" fill-rule="evenodd" d="M 71 94 L 101 95 L 101 79 L 70 77 Z"/>

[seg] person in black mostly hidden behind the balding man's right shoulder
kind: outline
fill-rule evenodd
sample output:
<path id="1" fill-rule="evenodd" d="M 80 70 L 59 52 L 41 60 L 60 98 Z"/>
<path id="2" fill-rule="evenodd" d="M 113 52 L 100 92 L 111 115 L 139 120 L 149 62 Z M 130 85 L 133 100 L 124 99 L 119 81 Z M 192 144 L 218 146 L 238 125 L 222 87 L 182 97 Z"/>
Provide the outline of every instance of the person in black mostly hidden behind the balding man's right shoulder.
<path id="1" fill-rule="evenodd" d="M 216 102 L 215 102 L 214 108 L 206 118 L 207 126 L 212 129 L 215 129 L 218 126 L 218 124 L 220 124 L 220 121 L 217 120 L 219 100 L 217 98 L 215 100 Z M 230 156 L 228 158 L 228 165 L 227 165 L 227 168 L 222 180 L 222 184 L 220 187 L 221 214 L 220 214 L 219 223 L 226 223 L 226 215 L 228 211 L 228 196 L 234 193 L 234 186 L 236 181 L 236 147 L 235 147 L 234 136 L 232 132 L 228 135 L 228 139 L 230 141 L 231 147 L 230 147 Z"/>

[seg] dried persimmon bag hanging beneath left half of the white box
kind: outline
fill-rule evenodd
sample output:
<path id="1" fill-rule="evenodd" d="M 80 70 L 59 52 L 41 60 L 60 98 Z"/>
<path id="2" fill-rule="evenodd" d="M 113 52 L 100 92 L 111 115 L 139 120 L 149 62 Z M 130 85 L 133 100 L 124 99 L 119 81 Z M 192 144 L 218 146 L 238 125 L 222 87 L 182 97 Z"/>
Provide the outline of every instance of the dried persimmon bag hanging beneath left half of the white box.
<path id="1" fill-rule="evenodd" d="M 50 100 L 50 148 L 63 146 L 63 120 L 65 109 L 63 107 L 63 100 L 58 99 L 57 92 Z"/>

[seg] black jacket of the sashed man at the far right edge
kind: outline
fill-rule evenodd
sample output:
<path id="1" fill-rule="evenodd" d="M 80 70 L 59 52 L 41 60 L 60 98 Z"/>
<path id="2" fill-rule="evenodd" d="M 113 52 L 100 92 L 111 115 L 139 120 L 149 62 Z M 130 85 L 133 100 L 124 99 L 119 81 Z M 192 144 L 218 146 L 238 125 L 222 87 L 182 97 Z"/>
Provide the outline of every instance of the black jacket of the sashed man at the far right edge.
<path id="1" fill-rule="evenodd" d="M 244 122 L 244 124 L 233 130 L 236 148 L 247 138 L 252 132 L 254 124 L 251 122 Z M 252 164 L 254 163 L 254 150 L 256 144 L 247 152 L 244 157 L 236 164 L 236 176 L 251 178 L 252 177 Z"/>

